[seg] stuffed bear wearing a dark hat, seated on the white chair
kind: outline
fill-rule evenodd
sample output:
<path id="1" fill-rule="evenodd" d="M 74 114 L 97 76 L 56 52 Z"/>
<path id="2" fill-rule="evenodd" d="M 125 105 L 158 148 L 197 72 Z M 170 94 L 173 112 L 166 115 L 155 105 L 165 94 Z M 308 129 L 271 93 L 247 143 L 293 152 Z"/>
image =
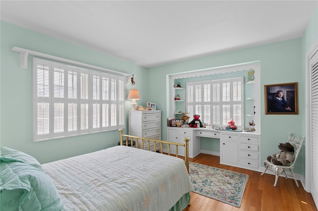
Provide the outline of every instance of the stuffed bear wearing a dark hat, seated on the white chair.
<path id="1" fill-rule="evenodd" d="M 289 142 L 285 144 L 280 143 L 278 149 L 280 153 L 273 154 L 267 157 L 267 160 L 272 162 L 274 165 L 287 165 L 290 164 L 294 159 L 294 147 Z"/>

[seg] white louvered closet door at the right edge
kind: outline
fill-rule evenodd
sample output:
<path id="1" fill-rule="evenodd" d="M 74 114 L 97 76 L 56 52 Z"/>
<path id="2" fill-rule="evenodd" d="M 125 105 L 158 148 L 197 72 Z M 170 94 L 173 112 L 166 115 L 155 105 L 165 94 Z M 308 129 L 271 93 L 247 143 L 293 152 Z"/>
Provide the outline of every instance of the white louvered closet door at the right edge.
<path id="1" fill-rule="evenodd" d="M 309 60 L 311 73 L 310 73 L 310 97 L 311 97 L 311 106 L 310 106 L 310 116 L 311 116 L 311 167 L 312 167 L 312 180 L 311 180 L 311 192 L 313 199 L 318 205 L 318 51 L 314 56 Z"/>

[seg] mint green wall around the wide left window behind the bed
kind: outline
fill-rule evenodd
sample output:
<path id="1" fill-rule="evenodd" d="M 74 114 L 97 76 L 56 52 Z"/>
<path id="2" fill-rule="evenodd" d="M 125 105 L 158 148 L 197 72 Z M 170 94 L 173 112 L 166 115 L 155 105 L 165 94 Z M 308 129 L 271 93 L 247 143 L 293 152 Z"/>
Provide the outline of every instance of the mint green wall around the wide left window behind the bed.
<path id="1" fill-rule="evenodd" d="M 26 152 L 41 163 L 117 145 L 118 131 L 33 143 L 32 56 L 29 56 L 28 59 L 28 69 L 21 69 L 19 67 L 20 54 L 12 52 L 11 48 L 16 46 L 134 74 L 136 85 L 132 86 L 130 83 L 126 86 L 126 96 L 131 88 L 137 88 L 142 98 L 138 104 L 143 105 L 146 105 L 148 95 L 147 83 L 144 83 L 147 79 L 147 69 L 123 59 L 73 45 L 7 22 L 1 21 L 0 24 L 0 145 Z M 130 103 L 130 101 L 126 101 L 127 113 L 131 109 Z M 124 132 L 128 133 L 127 126 Z"/>

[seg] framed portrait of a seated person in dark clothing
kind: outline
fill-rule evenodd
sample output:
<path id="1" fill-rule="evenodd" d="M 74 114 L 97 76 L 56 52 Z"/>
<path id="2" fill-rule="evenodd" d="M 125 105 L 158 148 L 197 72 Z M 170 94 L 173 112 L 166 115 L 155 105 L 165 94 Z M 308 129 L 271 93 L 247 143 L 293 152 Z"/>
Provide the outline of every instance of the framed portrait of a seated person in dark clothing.
<path id="1" fill-rule="evenodd" d="M 265 85 L 265 114 L 298 114 L 298 83 Z"/>

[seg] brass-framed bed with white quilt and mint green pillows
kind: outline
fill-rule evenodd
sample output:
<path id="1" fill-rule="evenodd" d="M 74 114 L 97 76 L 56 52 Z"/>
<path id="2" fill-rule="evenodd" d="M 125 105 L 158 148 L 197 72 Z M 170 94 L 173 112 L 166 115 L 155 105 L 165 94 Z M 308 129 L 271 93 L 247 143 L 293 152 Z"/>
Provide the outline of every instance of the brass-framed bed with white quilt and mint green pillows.
<path id="1" fill-rule="evenodd" d="M 121 144 L 138 138 L 120 131 Z M 1 147 L 0 210 L 183 210 L 193 190 L 188 159 L 164 155 L 171 142 L 141 139 L 159 142 L 161 153 L 115 146 L 41 165 Z"/>

